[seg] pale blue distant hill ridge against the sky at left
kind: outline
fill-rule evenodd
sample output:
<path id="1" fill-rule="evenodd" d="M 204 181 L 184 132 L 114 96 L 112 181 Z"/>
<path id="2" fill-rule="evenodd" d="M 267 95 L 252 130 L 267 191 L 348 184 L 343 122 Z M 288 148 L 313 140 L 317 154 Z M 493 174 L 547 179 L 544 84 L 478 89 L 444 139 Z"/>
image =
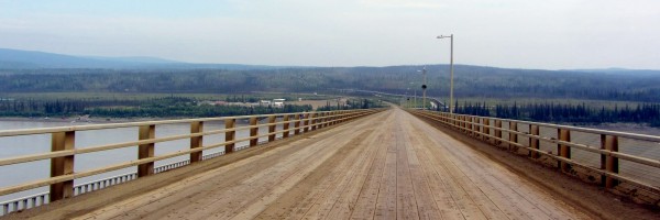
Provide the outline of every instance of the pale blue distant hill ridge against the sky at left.
<path id="1" fill-rule="evenodd" d="M 242 64 L 193 64 L 157 57 L 101 57 L 72 56 L 36 51 L 0 48 L 0 69 L 40 68 L 102 68 L 102 69 L 162 69 L 162 68 L 218 68 L 270 69 L 282 68 Z"/>

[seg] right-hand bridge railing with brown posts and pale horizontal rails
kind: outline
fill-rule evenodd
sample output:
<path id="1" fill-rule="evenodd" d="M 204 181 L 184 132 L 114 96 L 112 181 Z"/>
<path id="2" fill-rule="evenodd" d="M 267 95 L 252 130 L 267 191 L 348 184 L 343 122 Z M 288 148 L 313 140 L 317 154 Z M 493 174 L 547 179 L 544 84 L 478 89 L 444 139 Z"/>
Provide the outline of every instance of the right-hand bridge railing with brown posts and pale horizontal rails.
<path id="1" fill-rule="evenodd" d="M 535 160 L 553 158 L 562 172 L 603 187 L 618 187 L 629 194 L 650 193 L 639 198 L 646 202 L 660 201 L 660 136 L 448 112 L 411 112 Z"/>

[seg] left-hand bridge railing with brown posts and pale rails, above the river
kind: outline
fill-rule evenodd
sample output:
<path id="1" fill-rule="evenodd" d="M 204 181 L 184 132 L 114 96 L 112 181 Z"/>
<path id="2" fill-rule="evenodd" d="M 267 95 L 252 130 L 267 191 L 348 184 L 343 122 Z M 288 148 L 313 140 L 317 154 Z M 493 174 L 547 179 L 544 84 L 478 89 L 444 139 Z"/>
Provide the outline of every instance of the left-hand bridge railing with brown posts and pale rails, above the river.
<path id="1" fill-rule="evenodd" d="M 0 202 L 0 216 L 7 215 L 12 211 L 37 207 L 44 204 L 77 196 L 88 191 L 106 188 L 111 185 L 124 183 L 140 177 L 150 176 L 156 173 L 165 172 L 167 169 L 198 163 L 202 160 L 209 160 L 220 155 L 229 154 L 244 147 L 255 146 L 257 144 L 272 142 L 277 139 L 286 139 L 309 131 L 328 128 L 341 122 L 350 121 L 378 111 L 382 111 L 382 109 L 200 118 L 0 131 L 0 139 L 24 135 L 51 135 L 51 152 L 0 158 L 0 167 L 24 164 L 35 161 L 51 161 L 50 167 L 43 167 L 44 169 L 51 170 L 50 178 L 0 188 L 0 196 L 25 191 L 38 187 L 50 187 L 50 190 L 47 193 L 41 193 L 28 197 Z M 260 119 L 267 120 L 267 122 L 260 124 Z M 241 127 L 237 123 L 237 120 L 245 120 L 249 123 Z M 209 122 L 223 122 L 224 129 L 205 130 L 204 124 Z M 180 135 L 156 138 L 156 125 L 164 124 L 189 124 L 190 132 Z M 139 140 L 132 142 L 102 144 L 86 147 L 78 147 L 75 145 L 76 132 L 91 130 L 102 131 L 119 128 L 138 128 Z M 260 134 L 260 128 L 267 129 L 267 133 Z M 237 131 L 242 130 L 249 131 L 250 135 L 239 139 L 237 136 Z M 204 136 L 222 134 L 224 134 L 223 142 L 204 142 Z M 267 141 L 263 141 L 260 143 L 260 138 L 267 138 Z M 175 153 L 168 153 L 158 156 L 154 155 L 154 148 L 156 143 L 175 140 L 189 140 L 189 147 L 185 151 L 178 151 Z M 249 142 L 249 145 L 237 146 L 237 144 L 241 142 Z M 74 170 L 76 155 L 135 146 L 138 146 L 138 160 L 88 170 Z M 202 151 L 222 146 L 224 146 L 224 151 L 222 152 L 217 152 L 208 155 L 202 154 Z M 7 150 L 6 147 L 18 146 L 0 146 L 0 148 Z M 163 161 L 185 155 L 188 155 L 189 160 L 154 167 L 154 162 L 156 161 Z M 79 179 L 82 177 L 89 177 L 98 174 L 135 166 L 138 169 L 136 173 L 129 173 L 107 177 L 74 186 L 74 179 Z"/>

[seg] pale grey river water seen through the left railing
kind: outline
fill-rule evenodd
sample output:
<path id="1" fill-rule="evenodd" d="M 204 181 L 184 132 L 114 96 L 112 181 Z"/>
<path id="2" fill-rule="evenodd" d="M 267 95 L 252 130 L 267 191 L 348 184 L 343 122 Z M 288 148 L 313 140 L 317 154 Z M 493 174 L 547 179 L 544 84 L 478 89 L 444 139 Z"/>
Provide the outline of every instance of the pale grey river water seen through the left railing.
<path id="1" fill-rule="evenodd" d="M 244 125 L 241 122 L 237 122 L 238 125 Z M 262 122 L 260 122 L 262 123 Z M 36 129 L 36 128 L 52 128 L 52 127 L 70 127 L 70 125 L 82 125 L 89 124 L 87 122 L 72 123 L 68 121 L 44 121 L 44 120 L 32 120 L 32 121 L 2 121 L 0 120 L 0 130 L 16 130 L 16 129 Z M 293 127 L 292 127 L 293 128 Z M 224 124 L 222 122 L 208 122 L 204 124 L 205 131 L 222 130 Z M 278 127 L 277 130 L 282 130 Z M 156 138 L 172 136 L 178 134 L 188 134 L 190 132 L 190 125 L 187 123 L 182 124 L 164 124 L 156 125 Z M 260 134 L 267 133 L 266 127 L 260 128 Z M 293 133 L 293 132 L 292 132 Z M 248 130 L 237 131 L 237 139 L 249 136 Z M 278 136 L 282 136 L 280 134 Z M 91 146 L 99 146 L 111 143 L 132 142 L 138 140 L 138 128 L 121 128 L 121 129 L 108 129 L 108 130 L 95 130 L 95 131 L 78 131 L 76 132 L 75 146 L 76 148 L 85 148 Z M 267 138 L 261 138 L 260 141 L 265 141 Z M 224 141 L 224 133 L 207 135 L 204 138 L 204 145 L 210 145 L 215 143 L 221 143 Z M 184 151 L 189 148 L 189 139 L 169 141 L 156 143 L 155 155 L 165 155 L 177 151 Z M 248 145 L 248 142 L 238 143 L 237 146 Z M 47 153 L 51 151 L 51 134 L 38 134 L 29 136 L 7 136 L 0 138 L 0 158 L 15 157 L 22 155 Z M 212 148 L 205 151 L 204 155 L 222 152 L 224 147 Z M 169 164 L 173 162 L 187 160 L 188 156 L 177 156 L 169 160 L 157 161 L 155 166 Z M 75 156 L 74 170 L 85 172 L 89 169 L 100 168 L 114 164 L 120 164 L 129 161 L 138 160 L 138 146 L 130 146 L 118 150 L 110 150 L 103 152 L 95 152 L 88 154 L 79 154 Z M 0 166 L 0 188 L 8 186 L 15 186 L 24 183 L 34 180 L 45 179 L 50 177 L 51 173 L 50 160 L 14 164 L 9 166 Z M 74 185 L 88 183 L 91 180 L 117 176 L 128 173 L 136 172 L 136 167 L 128 167 L 124 169 L 113 170 L 100 175 L 89 176 L 80 179 L 75 179 Z M 47 191 L 47 187 L 41 187 L 28 191 L 22 191 L 12 195 L 0 196 L 0 202 L 7 201 L 14 198 L 24 196 L 35 195 L 38 193 Z"/>

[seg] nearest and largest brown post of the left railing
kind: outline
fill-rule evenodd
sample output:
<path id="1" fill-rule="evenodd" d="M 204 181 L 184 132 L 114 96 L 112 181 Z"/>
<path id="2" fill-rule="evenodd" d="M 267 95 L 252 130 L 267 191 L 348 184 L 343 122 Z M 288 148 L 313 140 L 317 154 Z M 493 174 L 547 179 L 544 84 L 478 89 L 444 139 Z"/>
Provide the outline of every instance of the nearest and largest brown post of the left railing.
<path id="1" fill-rule="evenodd" d="M 52 134 L 51 151 L 74 150 L 76 133 L 74 131 L 57 132 Z M 51 158 L 51 177 L 74 174 L 74 155 Z M 51 184 L 51 201 L 56 201 L 74 196 L 74 180 Z M 18 207 L 14 207 L 18 209 Z"/>

